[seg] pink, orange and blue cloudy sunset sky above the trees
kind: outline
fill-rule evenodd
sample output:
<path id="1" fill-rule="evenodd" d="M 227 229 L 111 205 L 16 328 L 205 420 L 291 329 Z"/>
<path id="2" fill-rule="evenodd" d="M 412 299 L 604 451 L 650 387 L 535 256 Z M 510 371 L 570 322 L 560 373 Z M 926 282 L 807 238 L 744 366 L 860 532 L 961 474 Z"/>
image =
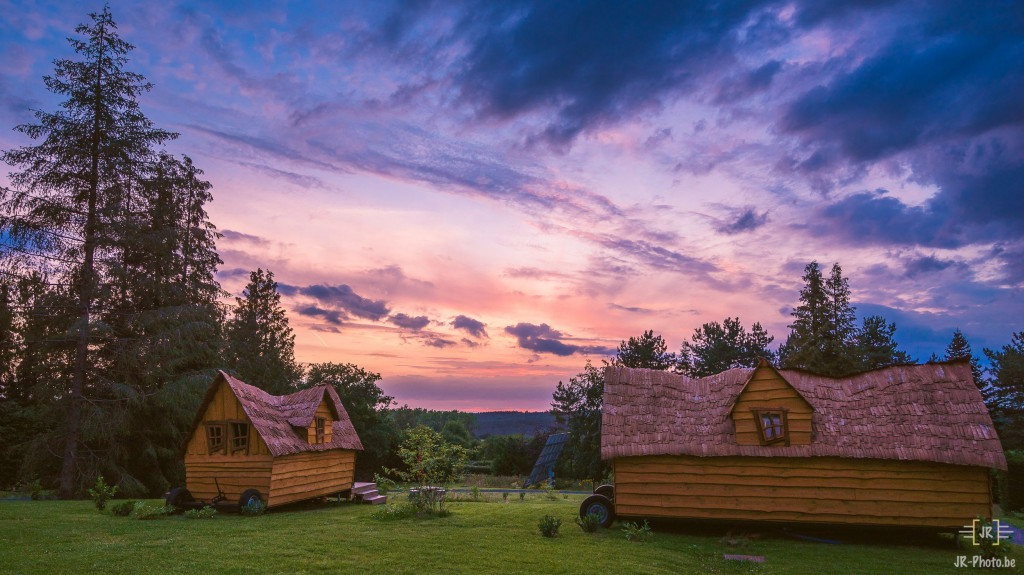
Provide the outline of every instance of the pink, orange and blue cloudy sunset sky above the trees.
<path id="1" fill-rule="evenodd" d="M 1020 2 L 283 4 L 111 9 L 221 284 L 272 270 L 299 361 L 546 409 L 645 329 L 777 345 L 812 260 L 921 360 L 1024 329 Z M 0 0 L 0 147 L 100 8 Z"/>

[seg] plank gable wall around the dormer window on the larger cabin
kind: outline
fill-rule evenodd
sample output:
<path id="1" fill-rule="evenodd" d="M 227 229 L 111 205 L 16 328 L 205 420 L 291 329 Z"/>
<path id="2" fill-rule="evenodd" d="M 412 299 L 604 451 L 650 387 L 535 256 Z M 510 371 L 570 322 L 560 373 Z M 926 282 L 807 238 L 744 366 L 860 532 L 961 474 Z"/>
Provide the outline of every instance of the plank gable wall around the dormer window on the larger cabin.
<path id="1" fill-rule="evenodd" d="M 790 445 L 811 444 L 811 406 L 774 369 L 758 368 L 743 393 L 736 399 L 732 421 L 736 426 L 736 443 L 739 445 L 761 445 L 761 430 L 751 412 L 754 407 L 786 408 Z"/>

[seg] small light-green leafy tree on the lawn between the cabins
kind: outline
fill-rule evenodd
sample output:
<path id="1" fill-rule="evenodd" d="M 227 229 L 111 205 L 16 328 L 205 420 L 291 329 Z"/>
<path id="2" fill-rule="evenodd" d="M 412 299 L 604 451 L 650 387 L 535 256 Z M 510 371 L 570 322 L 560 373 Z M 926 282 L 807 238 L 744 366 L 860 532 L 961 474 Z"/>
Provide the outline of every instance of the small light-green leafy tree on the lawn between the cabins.
<path id="1" fill-rule="evenodd" d="M 467 453 L 461 445 L 452 445 L 434 430 L 418 426 L 409 430 L 398 449 L 404 470 L 397 475 L 404 481 L 421 486 L 447 488 L 463 477 Z M 421 489 L 417 498 L 428 513 L 444 510 L 444 496 L 439 489 Z"/>

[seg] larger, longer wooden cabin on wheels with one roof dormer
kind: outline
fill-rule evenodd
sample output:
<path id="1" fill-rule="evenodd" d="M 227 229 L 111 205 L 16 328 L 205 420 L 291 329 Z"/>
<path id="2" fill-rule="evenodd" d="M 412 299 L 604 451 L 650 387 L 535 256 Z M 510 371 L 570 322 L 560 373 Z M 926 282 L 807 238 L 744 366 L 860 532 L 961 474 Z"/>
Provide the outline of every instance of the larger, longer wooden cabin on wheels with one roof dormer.
<path id="1" fill-rule="evenodd" d="M 1007 469 L 965 361 L 833 379 L 762 362 L 689 379 L 605 370 L 614 513 L 959 528 Z"/>

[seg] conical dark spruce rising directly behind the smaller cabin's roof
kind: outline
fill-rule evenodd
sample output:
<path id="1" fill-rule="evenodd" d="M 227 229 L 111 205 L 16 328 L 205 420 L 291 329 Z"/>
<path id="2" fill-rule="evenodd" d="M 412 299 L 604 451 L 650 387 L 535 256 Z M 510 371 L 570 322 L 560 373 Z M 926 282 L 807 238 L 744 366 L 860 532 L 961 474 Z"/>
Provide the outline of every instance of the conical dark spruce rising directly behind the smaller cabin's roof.
<path id="1" fill-rule="evenodd" d="M 295 335 L 281 305 L 273 272 L 249 275 L 243 297 L 225 325 L 226 360 L 246 383 L 281 395 L 295 391 L 302 368 L 295 362 Z"/>

